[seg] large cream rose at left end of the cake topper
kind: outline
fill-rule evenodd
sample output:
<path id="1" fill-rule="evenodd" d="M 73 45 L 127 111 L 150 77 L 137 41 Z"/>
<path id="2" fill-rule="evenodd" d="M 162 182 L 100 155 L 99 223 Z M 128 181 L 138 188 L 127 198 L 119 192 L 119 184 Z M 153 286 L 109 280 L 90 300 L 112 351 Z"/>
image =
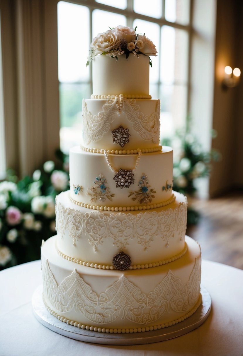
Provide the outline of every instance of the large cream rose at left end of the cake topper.
<path id="1" fill-rule="evenodd" d="M 109 52 L 120 45 L 120 38 L 117 32 L 108 30 L 103 33 L 99 33 L 97 37 L 93 39 L 91 47 L 94 48 L 94 54 L 102 54 L 103 52 Z"/>

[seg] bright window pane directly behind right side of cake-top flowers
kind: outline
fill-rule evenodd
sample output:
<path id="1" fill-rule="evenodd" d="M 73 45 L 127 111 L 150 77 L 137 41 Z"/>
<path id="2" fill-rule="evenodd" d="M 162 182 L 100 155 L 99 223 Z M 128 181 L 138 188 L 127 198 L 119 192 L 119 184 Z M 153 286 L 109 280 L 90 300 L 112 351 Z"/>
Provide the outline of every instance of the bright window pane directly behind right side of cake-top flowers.
<path id="1" fill-rule="evenodd" d="M 133 21 L 133 27 L 136 29 L 136 33 L 145 33 L 146 37 L 148 37 L 154 44 L 159 54 L 160 51 L 160 26 L 156 23 L 152 23 L 149 21 L 135 19 Z M 151 56 L 152 68 L 149 70 L 149 81 L 150 83 L 158 82 L 159 78 L 159 56 Z M 151 94 L 150 94 L 151 95 Z M 157 97 L 157 95 L 156 95 Z"/>

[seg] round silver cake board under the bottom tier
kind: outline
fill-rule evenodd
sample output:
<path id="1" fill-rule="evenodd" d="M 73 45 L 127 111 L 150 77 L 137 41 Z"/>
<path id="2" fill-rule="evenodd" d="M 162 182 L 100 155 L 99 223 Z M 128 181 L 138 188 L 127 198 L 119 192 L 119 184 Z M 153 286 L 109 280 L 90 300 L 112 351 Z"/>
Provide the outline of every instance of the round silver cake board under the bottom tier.
<path id="1" fill-rule="evenodd" d="M 112 334 L 98 333 L 63 323 L 51 315 L 43 304 L 42 286 L 39 286 L 32 297 L 33 313 L 38 321 L 55 333 L 74 340 L 105 345 L 140 345 L 160 342 L 178 337 L 197 329 L 207 319 L 211 310 L 211 297 L 205 288 L 201 288 L 202 303 L 188 319 L 164 329 L 145 331 L 144 333 Z"/>

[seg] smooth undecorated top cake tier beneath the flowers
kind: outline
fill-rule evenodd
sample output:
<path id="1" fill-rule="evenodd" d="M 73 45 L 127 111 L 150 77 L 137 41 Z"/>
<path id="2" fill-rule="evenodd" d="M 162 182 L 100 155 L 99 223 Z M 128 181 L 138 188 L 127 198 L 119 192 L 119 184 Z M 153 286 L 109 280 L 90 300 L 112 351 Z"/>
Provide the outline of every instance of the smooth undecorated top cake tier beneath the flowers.
<path id="1" fill-rule="evenodd" d="M 151 99 L 149 95 L 149 57 L 140 54 L 119 56 L 118 61 L 109 56 L 93 59 L 92 99 L 120 95 L 125 98 Z"/>

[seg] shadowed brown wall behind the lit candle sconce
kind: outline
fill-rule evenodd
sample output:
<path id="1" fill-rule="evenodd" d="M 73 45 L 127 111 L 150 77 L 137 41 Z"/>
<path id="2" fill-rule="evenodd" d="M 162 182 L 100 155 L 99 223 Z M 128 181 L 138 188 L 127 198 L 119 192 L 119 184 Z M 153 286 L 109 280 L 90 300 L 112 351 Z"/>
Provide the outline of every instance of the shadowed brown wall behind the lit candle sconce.
<path id="1" fill-rule="evenodd" d="M 212 148 L 222 160 L 213 163 L 210 196 L 243 188 L 243 1 L 218 0 L 215 47 L 213 128 L 218 136 Z M 222 90 L 224 67 L 239 67 L 241 83 Z"/>

